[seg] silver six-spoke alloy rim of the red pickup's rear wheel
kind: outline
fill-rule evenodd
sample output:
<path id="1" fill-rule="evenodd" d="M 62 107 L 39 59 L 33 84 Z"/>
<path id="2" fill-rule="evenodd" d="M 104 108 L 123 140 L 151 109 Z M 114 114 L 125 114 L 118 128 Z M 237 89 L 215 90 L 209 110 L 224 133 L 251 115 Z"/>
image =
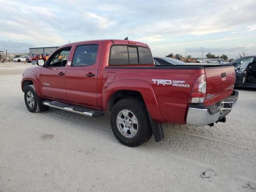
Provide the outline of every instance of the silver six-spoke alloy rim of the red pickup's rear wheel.
<path id="1" fill-rule="evenodd" d="M 126 138 L 134 137 L 138 132 L 138 119 L 127 109 L 120 111 L 116 117 L 119 132 Z"/>

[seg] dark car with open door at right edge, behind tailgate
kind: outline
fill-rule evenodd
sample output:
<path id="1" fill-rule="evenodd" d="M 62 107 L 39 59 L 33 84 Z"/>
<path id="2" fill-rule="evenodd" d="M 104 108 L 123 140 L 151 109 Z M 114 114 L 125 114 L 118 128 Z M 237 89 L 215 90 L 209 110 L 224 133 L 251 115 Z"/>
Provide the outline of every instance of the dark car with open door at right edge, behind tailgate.
<path id="1" fill-rule="evenodd" d="M 256 56 L 246 56 L 233 60 L 236 72 L 236 87 L 256 88 Z"/>

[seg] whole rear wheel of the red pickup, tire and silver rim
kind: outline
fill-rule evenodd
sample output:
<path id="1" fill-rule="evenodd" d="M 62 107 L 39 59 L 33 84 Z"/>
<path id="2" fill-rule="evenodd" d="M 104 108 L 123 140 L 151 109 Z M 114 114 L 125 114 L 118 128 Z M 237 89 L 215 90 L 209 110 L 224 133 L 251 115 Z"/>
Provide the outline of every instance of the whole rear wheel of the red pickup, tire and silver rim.
<path id="1" fill-rule="evenodd" d="M 111 127 L 117 140 L 129 147 L 140 146 L 152 136 L 146 106 L 136 98 L 125 98 L 114 105 Z"/>

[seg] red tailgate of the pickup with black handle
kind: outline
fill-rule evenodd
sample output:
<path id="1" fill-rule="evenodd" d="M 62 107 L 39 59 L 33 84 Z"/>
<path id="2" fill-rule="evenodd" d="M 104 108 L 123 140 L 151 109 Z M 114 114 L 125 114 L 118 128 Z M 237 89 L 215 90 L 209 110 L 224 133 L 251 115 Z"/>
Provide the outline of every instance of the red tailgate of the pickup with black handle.
<path id="1" fill-rule="evenodd" d="M 233 93 L 236 75 L 233 66 L 205 68 L 207 90 L 205 105 L 212 105 Z"/>

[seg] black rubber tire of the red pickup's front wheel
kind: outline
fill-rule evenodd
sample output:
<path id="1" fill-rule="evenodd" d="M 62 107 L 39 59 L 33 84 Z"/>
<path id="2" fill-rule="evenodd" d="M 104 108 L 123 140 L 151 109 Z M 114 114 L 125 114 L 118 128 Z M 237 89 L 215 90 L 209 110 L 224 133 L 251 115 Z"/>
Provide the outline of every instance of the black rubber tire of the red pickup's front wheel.
<path id="1" fill-rule="evenodd" d="M 34 104 L 31 104 L 31 101 L 27 100 L 28 92 L 32 93 Z M 35 90 L 34 90 L 34 85 L 29 85 L 26 87 L 25 92 L 24 92 L 24 100 L 25 104 L 28 108 L 28 110 L 32 113 L 38 113 L 40 111 L 47 111 L 49 110 L 49 106 L 45 106 L 42 104 L 43 100 L 37 96 Z"/>

